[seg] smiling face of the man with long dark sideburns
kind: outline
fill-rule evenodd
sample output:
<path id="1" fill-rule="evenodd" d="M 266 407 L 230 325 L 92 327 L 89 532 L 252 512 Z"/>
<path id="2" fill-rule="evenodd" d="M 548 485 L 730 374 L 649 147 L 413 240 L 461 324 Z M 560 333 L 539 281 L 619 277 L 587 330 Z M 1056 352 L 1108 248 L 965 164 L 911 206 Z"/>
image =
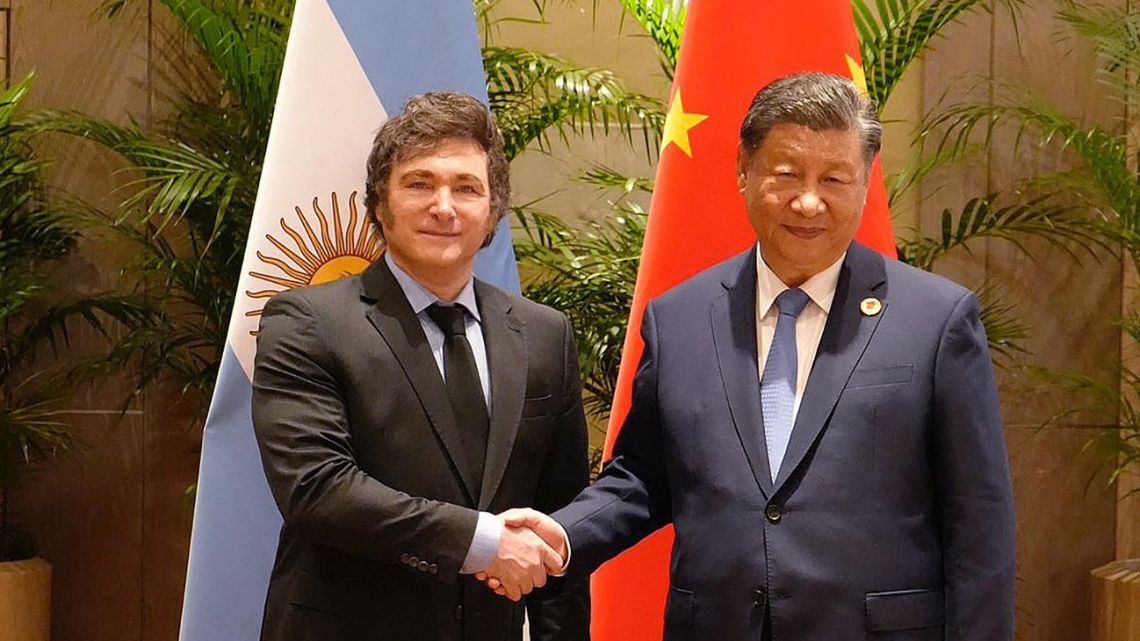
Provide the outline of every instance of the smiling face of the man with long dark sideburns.
<path id="1" fill-rule="evenodd" d="M 397 162 L 377 209 L 401 269 L 429 287 L 465 283 L 492 227 L 487 153 L 474 140 L 446 139 Z"/>

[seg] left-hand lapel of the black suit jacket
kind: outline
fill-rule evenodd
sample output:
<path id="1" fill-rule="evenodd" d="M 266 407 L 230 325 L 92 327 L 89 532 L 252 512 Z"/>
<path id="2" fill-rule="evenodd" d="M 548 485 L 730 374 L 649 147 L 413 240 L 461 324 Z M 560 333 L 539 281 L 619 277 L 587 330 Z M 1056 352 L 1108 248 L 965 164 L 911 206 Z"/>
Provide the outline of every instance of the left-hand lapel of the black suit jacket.
<path id="1" fill-rule="evenodd" d="M 439 366 L 435 364 L 435 357 L 431 352 L 431 346 L 427 344 L 420 319 L 412 311 L 404 290 L 400 289 L 400 284 L 384 260 L 377 260 L 369 267 L 361 275 L 361 283 L 364 286 L 361 299 L 373 303 L 365 313 L 368 322 L 380 332 L 407 374 L 435 436 L 443 444 L 451 465 L 463 481 L 467 503 L 474 505 L 478 490 L 474 476 L 463 455 L 463 441 L 455 417 L 451 415 L 447 387 L 443 384 L 443 378 L 439 373 Z"/>

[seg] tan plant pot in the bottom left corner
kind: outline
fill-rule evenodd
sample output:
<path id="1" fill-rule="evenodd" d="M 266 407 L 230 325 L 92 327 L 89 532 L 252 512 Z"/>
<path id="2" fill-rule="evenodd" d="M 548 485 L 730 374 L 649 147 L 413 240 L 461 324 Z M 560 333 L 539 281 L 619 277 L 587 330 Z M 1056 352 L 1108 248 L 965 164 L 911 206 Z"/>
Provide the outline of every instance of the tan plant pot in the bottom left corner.
<path id="1" fill-rule="evenodd" d="M 0 563 L 0 641 L 49 641 L 50 633 L 51 565 Z"/>

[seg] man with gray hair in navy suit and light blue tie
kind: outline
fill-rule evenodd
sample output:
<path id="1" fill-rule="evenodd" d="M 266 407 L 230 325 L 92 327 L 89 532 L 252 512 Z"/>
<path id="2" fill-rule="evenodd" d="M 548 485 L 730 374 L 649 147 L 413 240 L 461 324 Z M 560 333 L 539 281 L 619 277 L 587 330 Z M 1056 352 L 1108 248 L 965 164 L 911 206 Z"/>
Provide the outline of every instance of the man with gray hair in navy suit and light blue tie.
<path id="1" fill-rule="evenodd" d="M 649 303 L 597 482 L 553 518 L 506 514 L 571 576 L 673 524 L 666 639 L 1013 638 L 977 298 L 853 240 L 880 136 L 840 76 L 756 95 L 736 181 L 757 244 Z"/>

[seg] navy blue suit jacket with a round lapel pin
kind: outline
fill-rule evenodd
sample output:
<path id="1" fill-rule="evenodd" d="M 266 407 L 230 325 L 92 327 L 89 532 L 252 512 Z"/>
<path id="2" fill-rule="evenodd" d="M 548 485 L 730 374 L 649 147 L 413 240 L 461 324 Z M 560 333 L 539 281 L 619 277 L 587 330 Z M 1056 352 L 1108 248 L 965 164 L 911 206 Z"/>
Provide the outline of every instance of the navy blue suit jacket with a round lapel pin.
<path id="1" fill-rule="evenodd" d="M 1013 638 L 1012 493 L 971 292 L 853 243 L 774 484 L 756 250 L 652 301 L 642 338 L 613 459 L 554 513 L 571 574 L 671 522 L 667 640 Z"/>

